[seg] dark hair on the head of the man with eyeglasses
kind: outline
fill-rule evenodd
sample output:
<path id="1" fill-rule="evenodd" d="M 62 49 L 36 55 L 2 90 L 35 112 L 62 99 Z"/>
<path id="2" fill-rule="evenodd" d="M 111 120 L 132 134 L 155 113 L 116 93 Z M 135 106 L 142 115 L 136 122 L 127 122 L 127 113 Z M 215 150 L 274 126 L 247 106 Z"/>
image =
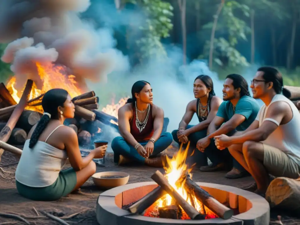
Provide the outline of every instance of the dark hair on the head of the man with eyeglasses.
<path id="1" fill-rule="evenodd" d="M 263 72 L 263 79 L 266 83 L 273 82 L 273 89 L 276 94 L 281 94 L 283 88 L 283 78 L 281 73 L 274 67 L 264 66 L 260 67 L 257 71 Z"/>

